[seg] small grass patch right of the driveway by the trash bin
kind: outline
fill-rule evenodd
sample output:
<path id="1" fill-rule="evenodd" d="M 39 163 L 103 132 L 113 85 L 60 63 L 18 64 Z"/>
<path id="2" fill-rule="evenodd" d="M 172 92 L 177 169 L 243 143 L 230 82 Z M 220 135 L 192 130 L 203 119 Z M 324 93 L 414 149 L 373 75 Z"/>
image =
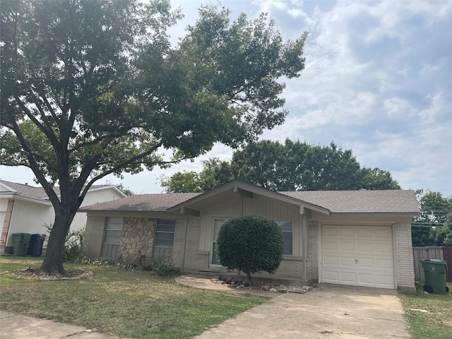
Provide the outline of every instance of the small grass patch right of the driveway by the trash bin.
<path id="1" fill-rule="evenodd" d="M 452 291 L 452 284 L 447 284 Z M 422 288 L 400 295 L 413 339 L 452 338 L 452 295 L 427 295 Z M 423 310 L 423 311 L 422 311 Z"/>

